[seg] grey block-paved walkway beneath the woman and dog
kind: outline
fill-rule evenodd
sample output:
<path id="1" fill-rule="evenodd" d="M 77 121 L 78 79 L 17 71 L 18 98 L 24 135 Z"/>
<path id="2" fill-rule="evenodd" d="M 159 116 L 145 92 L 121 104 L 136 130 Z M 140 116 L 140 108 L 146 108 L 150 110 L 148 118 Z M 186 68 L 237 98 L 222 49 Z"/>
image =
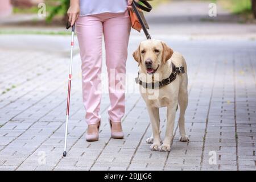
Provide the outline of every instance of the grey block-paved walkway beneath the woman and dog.
<path id="1" fill-rule="evenodd" d="M 110 138 L 109 98 L 104 93 L 100 140 L 86 142 L 80 56 L 75 55 L 66 158 L 62 154 L 68 53 L 0 45 L 0 170 L 256 170 L 256 41 L 175 37 L 168 34 L 167 27 L 158 32 L 159 26 L 164 27 L 151 23 L 152 36 L 163 39 L 187 60 L 189 105 L 185 127 L 189 142 L 178 141 L 176 118 L 171 152 L 150 151 L 146 143 L 151 126 L 134 83 L 138 67 L 131 56 L 143 35 L 133 31 L 130 39 L 129 93 L 122 121 L 125 138 L 121 140 Z M 24 40 L 23 36 L 18 40 Z M 46 42 L 48 38 L 56 40 L 56 50 L 58 43 L 70 39 L 46 37 Z M 0 35 L 0 40 L 7 38 Z M 26 39 L 31 41 L 34 36 Z M 36 43 L 45 44 L 43 40 L 40 36 Z M 11 44 L 15 47 L 16 42 Z M 165 108 L 160 109 L 160 120 L 164 131 Z M 211 163 L 214 159 L 216 164 Z"/>

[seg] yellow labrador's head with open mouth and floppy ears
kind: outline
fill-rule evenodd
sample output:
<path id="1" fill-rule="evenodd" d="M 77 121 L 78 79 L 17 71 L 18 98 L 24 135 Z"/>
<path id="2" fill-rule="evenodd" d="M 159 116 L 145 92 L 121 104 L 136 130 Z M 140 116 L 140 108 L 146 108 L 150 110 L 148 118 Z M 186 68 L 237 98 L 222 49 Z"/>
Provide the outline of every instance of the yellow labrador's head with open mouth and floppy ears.
<path id="1" fill-rule="evenodd" d="M 153 74 L 172 56 L 172 49 L 160 40 L 144 40 L 134 51 L 133 57 L 142 71 Z"/>

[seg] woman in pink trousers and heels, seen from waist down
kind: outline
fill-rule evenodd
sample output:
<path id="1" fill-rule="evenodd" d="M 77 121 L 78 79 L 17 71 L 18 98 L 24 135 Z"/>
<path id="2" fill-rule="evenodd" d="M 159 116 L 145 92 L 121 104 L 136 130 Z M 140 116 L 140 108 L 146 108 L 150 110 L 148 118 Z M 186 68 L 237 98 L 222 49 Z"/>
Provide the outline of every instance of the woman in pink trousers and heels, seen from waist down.
<path id="1" fill-rule="evenodd" d="M 102 34 L 106 49 L 110 107 L 108 109 L 112 138 L 123 138 L 121 119 L 125 113 L 125 74 L 130 18 L 127 6 L 133 0 L 71 0 L 68 10 L 71 26 L 76 22 L 82 61 L 82 95 L 88 123 L 86 140 L 97 141 L 101 123 L 100 73 L 102 67 Z M 116 88 L 121 85 L 120 88 Z"/>

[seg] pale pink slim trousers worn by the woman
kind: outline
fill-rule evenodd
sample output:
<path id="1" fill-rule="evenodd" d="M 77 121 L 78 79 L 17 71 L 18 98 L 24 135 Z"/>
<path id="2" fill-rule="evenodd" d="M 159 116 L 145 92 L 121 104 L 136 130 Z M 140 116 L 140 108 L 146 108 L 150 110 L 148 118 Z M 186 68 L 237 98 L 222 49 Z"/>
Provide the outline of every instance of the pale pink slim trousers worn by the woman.
<path id="1" fill-rule="evenodd" d="M 82 61 L 82 97 L 88 125 L 96 124 L 101 119 L 99 112 L 102 35 L 104 35 L 109 80 L 109 119 L 113 122 L 121 122 L 125 113 L 125 78 L 119 75 L 125 75 L 126 72 L 130 30 L 128 11 L 82 16 L 76 22 Z"/>

